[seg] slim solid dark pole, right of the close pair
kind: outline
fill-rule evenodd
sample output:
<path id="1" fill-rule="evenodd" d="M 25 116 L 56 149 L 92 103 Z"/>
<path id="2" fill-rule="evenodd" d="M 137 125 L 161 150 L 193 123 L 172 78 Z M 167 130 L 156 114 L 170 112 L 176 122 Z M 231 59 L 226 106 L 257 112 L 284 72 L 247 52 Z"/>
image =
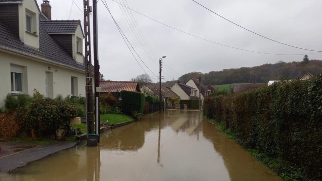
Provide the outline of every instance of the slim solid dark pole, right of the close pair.
<path id="1" fill-rule="evenodd" d="M 94 87 L 95 87 L 95 119 L 96 134 L 100 132 L 100 116 L 99 116 L 99 63 L 98 63 L 98 39 L 97 39 L 97 0 L 92 0 L 93 4 L 93 50 L 94 50 Z M 99 90 L 98 90 L 99 89 Z M 98 137 L 99 142 L 99 137 Z"/>

